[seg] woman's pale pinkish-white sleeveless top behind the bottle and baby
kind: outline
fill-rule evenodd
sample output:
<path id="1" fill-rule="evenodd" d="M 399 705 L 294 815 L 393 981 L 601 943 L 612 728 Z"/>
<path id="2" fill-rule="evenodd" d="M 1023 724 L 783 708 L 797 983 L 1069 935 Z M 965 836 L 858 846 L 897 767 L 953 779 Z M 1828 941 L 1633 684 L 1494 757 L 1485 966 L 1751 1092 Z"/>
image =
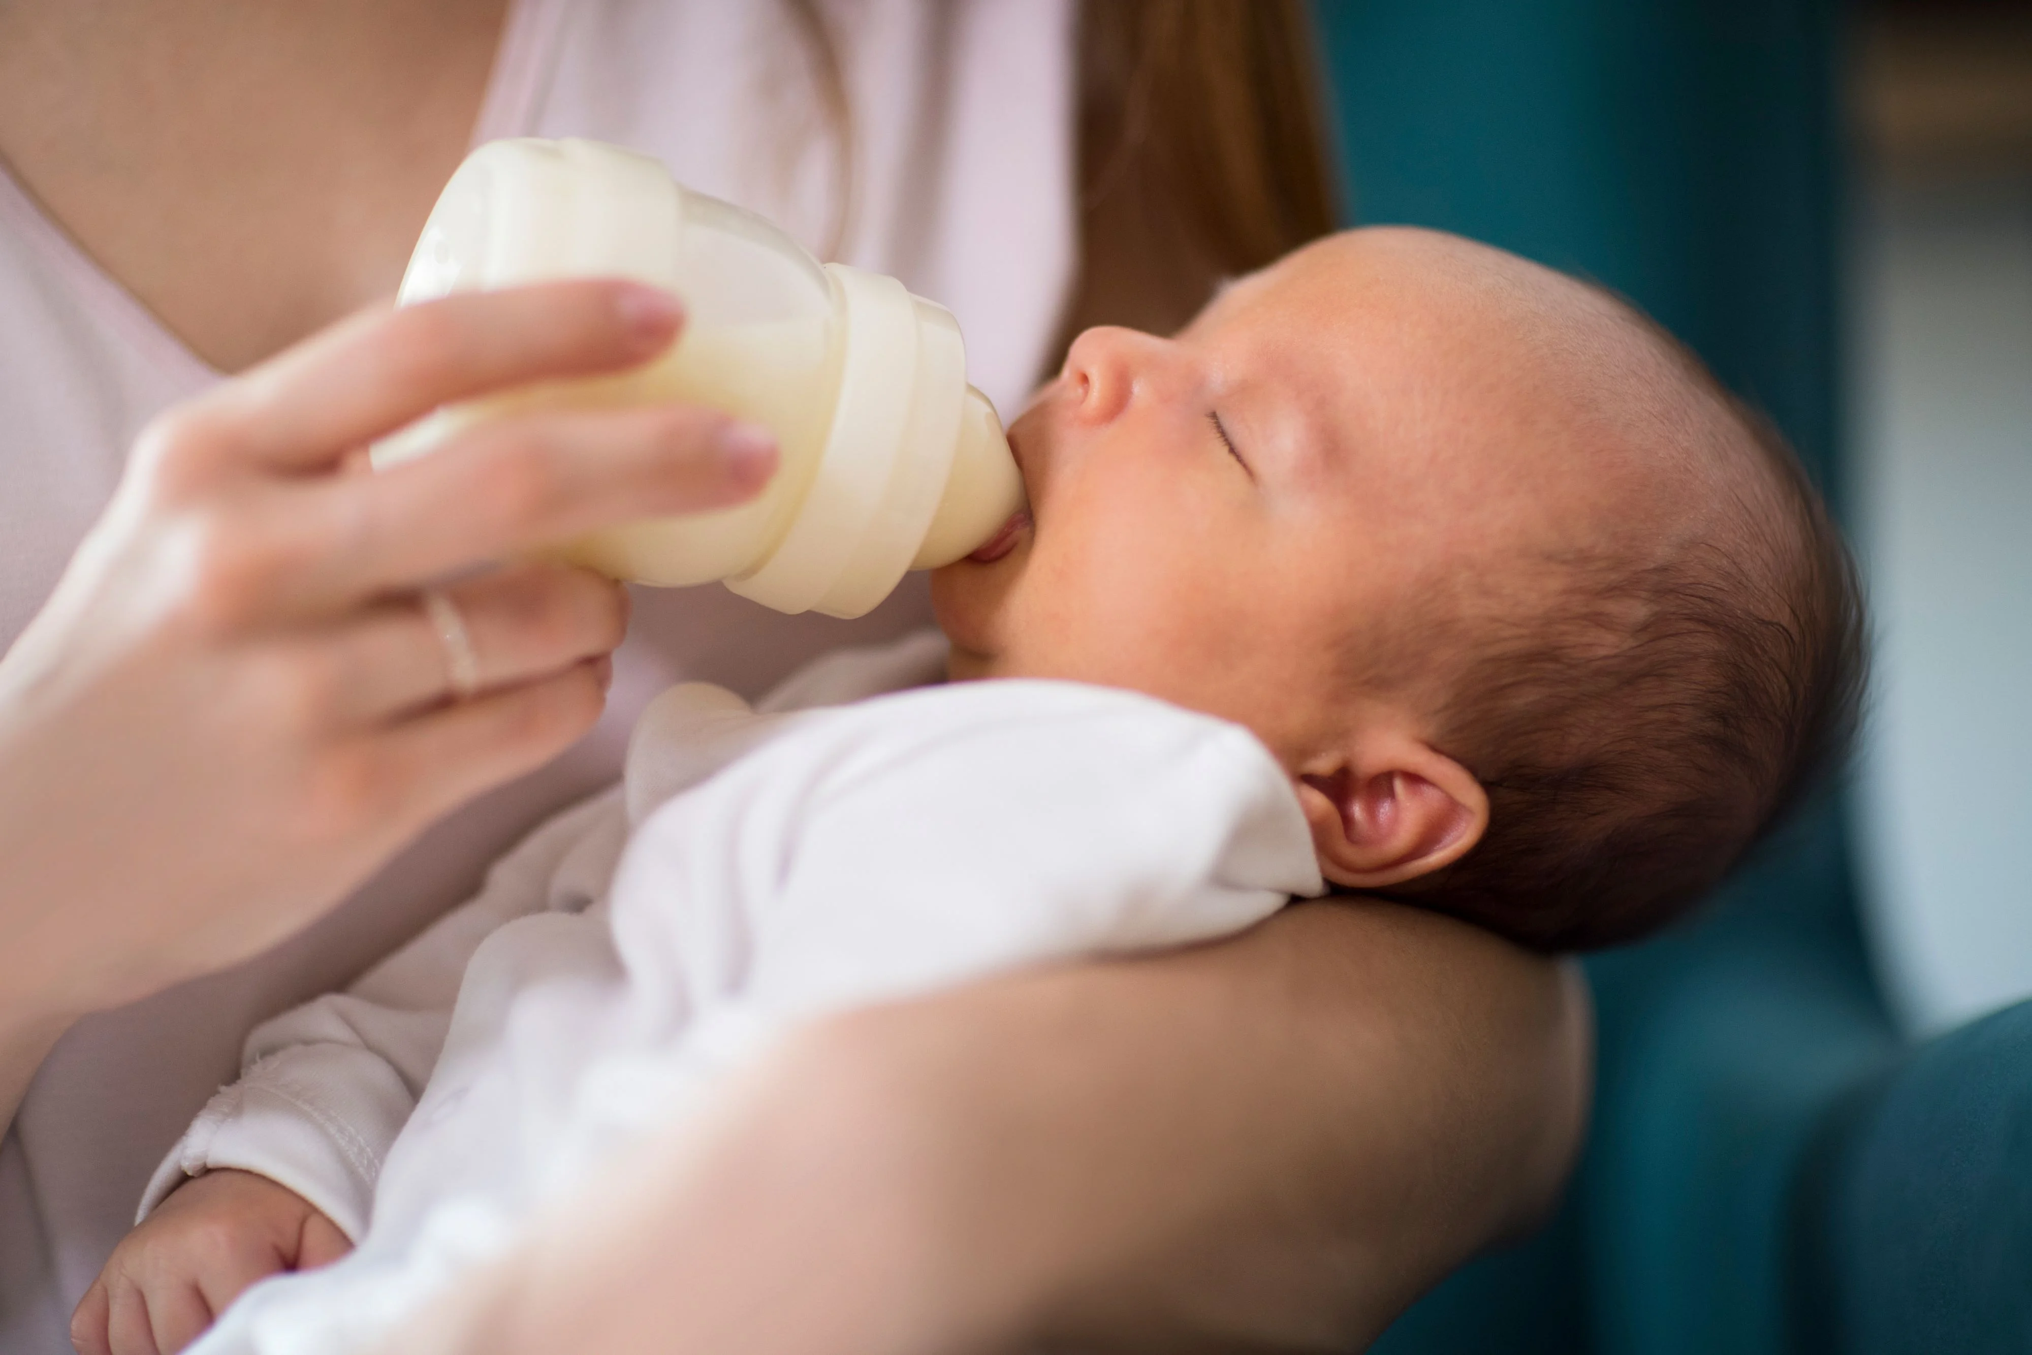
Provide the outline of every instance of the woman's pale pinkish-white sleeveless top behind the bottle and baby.
<path id="1" fill-rule="evenodd" d="M 1071 280 L 1067 0 L 831 6 L 851 102 L 853 213 L 839 258 L 898 274 L 967 333 L 1004 408 L 1040 376 Z M 780 219 L 823 252 L 839 183 L 805 47 L 764 0 L 516 0 L 475 140 L 593 136 Z M 49 595 L 140 425 L 219 378 L 0 173 L 0 644 Z M 855 626 L 719 587 L 644 593 L 610 717 L 573 754 L 404 853 L 337 914 L 232 973 L 81 1022 L 0 1146 L 0 1353 L 69 1351 L 69 1310 L 244 1034 L 343 985 L 488 861 L 614 778 L 626 729 L 675 679 L 758 693 L 845 638 L 920 626 L 920 585 Z"/>

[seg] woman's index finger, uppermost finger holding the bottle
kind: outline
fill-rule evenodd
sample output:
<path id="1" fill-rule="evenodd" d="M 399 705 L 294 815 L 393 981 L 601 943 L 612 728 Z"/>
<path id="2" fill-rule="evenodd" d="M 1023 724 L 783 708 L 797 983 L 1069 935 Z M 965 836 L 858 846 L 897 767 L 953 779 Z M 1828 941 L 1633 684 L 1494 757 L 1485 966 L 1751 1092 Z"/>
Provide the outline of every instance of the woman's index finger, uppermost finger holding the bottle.
<path id="1" fill-rule="evenodd" d="M 612 278 L 374 309 L 226 382 L 195 423 L 236 459 L 321 469 L 439 404 L 646 362 L 681 321 L 669 293 Z"/>

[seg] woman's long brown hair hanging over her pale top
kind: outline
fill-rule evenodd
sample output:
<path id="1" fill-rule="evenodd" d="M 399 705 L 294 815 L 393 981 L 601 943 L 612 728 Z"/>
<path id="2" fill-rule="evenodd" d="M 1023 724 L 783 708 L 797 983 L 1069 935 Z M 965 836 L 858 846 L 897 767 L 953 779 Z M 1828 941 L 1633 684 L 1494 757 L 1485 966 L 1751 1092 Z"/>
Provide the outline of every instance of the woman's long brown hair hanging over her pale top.
<path id="1" fill-rule="evenodd" d="M 821 0 L 788 0 L 819 104 L 849 146 L 849 102 Z M 1170 333 L 1221 278 L 1335 225 L 1305 0 L 1081 0 L 1079 280 L 1087 325 Z M 835 236 L 851 217 L 841 167 Z M 1053 353 L 1057 362 L 1057 353 Z"/>

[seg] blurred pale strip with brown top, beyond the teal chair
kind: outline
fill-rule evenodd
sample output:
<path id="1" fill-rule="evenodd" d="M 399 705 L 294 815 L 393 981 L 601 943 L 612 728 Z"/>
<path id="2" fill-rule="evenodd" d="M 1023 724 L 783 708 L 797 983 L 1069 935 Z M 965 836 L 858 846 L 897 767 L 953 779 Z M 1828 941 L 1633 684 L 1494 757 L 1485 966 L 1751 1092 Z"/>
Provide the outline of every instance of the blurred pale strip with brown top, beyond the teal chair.
<path id="1" fill-rule="evenodd" d="M 1869 10 L 1847 83 L 1863 900 L 1898 1014 L 1941 1030 L 2032 993 L 2032 6 Z"/>

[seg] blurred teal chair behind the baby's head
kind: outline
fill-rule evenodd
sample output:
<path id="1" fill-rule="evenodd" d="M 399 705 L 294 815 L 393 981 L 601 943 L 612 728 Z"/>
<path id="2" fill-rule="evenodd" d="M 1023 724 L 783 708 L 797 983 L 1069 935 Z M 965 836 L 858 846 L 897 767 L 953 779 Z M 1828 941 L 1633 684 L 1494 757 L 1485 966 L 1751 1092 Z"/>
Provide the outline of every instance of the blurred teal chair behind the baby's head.
<path id="1" fill-rule="evenodd" d="M 1841 508 L 1841 6 L 1317 0 L 1355 223 L 1455 230 L 1687 339 Z M 2032 1014 L 1902 1050 L 1839 796 L 1693 926 L 1589 961 L 1557 1219 L 1388 1355 L 2032 1351 Z"/>

